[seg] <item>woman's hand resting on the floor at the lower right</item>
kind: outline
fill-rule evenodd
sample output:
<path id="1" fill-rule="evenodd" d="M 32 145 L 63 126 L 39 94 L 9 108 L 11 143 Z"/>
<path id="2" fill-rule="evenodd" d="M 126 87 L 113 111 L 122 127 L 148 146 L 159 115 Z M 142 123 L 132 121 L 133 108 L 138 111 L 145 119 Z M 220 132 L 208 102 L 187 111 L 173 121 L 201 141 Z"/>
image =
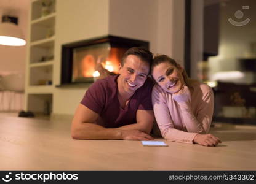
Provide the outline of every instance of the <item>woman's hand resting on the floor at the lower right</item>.
<path id="1" fill-rule="evenodd" d="M 212 134 L 197 134 L 194 137 L 193 142 L 206 147 L 209 147 L 209 146 L 212 147 L 212 146 L 216 146 L 222 141 L 218 139 L 218 137 L 213 136 Z"/>

